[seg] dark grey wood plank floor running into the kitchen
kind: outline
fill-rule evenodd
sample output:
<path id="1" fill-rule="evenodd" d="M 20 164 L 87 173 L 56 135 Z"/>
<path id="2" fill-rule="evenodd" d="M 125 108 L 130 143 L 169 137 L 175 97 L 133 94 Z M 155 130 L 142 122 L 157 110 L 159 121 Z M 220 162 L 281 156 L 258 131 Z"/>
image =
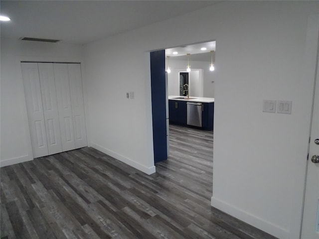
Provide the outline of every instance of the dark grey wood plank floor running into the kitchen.
<path id="1" fill-rule="evenodd" d="M 0 169 L 1 239 L 275 239 L 210 206 L 213 134 L 170 125 L 146 175 L 82 148 Z"/>

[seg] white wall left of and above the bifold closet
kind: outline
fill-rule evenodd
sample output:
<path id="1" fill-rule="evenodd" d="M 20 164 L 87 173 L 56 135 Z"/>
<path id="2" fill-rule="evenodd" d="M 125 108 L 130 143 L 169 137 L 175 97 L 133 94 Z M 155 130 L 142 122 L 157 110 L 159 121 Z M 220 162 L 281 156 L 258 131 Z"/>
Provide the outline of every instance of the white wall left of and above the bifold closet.
<path id="1" fill-rule="evenodd" d="M 32 160 L 20 61 L 83 62 L 80 45 L 1 38 L 0 165 Z"/>

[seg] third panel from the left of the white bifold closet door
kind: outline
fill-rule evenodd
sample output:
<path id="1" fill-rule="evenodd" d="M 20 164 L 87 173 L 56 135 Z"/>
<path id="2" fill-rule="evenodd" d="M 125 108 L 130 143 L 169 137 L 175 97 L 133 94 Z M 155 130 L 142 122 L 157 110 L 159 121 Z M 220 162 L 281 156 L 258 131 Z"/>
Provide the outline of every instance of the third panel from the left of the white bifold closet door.
<path id="1" fill-rule="evenodd" d="M 71 95 L 66 63 L 54 63 L 54 78 L 58 103 L 63 151 L 75 149 Z"/>

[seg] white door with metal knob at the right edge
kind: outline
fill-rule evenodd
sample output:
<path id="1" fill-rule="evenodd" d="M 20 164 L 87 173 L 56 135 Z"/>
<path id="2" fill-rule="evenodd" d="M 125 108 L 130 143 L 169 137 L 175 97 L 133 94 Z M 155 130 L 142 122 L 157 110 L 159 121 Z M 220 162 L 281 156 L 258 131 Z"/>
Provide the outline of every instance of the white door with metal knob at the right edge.
<path id="1" fill-rule="evenodd" d="M 311 128 L 302 239 L 319 239 L 319 64 Z"/>

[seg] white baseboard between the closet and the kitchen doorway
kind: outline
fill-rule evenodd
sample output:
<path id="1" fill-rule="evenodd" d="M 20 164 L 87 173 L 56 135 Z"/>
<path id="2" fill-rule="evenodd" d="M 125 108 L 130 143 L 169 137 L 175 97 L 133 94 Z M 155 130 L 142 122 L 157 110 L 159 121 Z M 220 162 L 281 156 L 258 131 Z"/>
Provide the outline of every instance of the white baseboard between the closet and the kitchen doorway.
<path id="1" fill-rule="evenodd" d="M 125 156 L 123 156 L 121 154 L 118 154 L 118 153 L 116 153 L 116 152 L 114 152 L 112 150 L 104 148 L 101 145 L 96 144 L 94 142 L 91 142 L 91 147 L 93 147 L 93 148 L 95 148 L 97 150 L 100 150 L 101 152 L 106 153 L 106 154 L 110 155 L 111 157 L 116 158 L 116 159 L 120 160 L 121 162 L 126 163 L 126 164 L 128 164 L 128 165 L 130 165 L 130 166 L 132 166 L 132 167 L 134 167 L 134 168 L 136 168 L 136 169 L 148 174 L 148 175 L 156 172 L 155 166 L 145 167 L 144 165 L 142 165 L 140 163 L 137 163 L 137 162 L 133 161 L 132 159 L 129 159 L 129 158 L 127 158 L 127 157 L 125 157 Z"/>

